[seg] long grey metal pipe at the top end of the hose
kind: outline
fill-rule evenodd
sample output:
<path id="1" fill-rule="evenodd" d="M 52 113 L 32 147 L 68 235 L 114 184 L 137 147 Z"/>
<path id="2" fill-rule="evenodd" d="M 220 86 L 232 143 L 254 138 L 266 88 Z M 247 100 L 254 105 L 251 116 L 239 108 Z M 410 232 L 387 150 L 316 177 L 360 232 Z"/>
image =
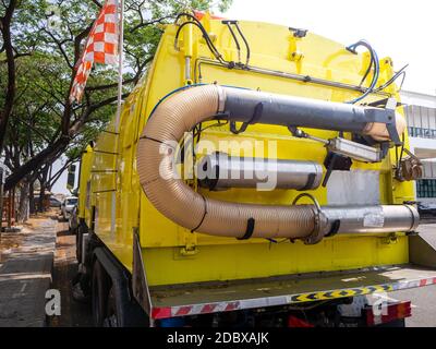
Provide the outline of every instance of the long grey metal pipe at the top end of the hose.
<path id="1" fill-rule="evenodd" d="M 354 132 L 375 141 L 396 141 L 404 132 L 404 118 L 393 110 L 351 104 L 268 94 L 251 89 L 220 87 L 225 95 L 223 110 L 231 122 L 266 123 L 288 128 Z M 390 128 L 389 127 L 389 128 Z"/>

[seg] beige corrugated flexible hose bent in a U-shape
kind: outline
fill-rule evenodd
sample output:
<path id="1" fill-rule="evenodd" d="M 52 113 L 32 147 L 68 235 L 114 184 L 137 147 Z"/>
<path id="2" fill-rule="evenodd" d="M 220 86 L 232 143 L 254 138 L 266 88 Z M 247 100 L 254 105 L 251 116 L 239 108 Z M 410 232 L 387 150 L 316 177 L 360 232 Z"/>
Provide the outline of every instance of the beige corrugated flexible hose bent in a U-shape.
<path id="1" fill-rule="evenodd" d="M 213 120 L 225 108 L 226 91 L 216 85 L 192 87 L 158 106 L 147 121 L 137 147 L 137 172 L 147 198 L 164 216 L 192 231 L 239 239 L 250 236 L 302 239 L 306 243 L 320 241 L 335 225 L 315 205 L 216 201 L 195 192 L 180 179 L 173 166 L 177 151 L 173 144 L 180 142 L 184 132 Z M 417 213 L 411 214 L 413 207 L 403 207 L 404 215 L 412 216 L 407 220 L 410 225 L 401 228 L 404 231 L 414 229 Z"/>

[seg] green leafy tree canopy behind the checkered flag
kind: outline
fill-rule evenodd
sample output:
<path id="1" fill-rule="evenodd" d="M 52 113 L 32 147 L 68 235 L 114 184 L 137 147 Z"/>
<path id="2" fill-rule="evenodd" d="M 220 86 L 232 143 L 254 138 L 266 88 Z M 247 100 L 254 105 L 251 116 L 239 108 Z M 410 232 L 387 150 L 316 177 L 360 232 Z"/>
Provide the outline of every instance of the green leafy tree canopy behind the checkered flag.
<path id="1" fill-rule="evenodd" d="M 12 174 L 7 178 L 7 190 L 26 176 L 37 176 L 64 152 L 70 156 L 80 153 L 90 135 L 94 136 L 114 112 L 117 71 L 107 67 L 97 65 L 94 69 L 80 105 L 72 105 L 69 100 L 75 76 L 74 64 L 101 3 L 99 0 L 0 2 L 2 22 L 11 13 L 11 49 L 4 48 L 9 43 L 4 25 L 0 43 L 0 47 L 3 47 L 0 55 L 5 56 L 0 76 L 8 72 L 11 79 L 0 81 L 0 108 L 10 109 L 8 113 L 16 118 L 11 122 L 11 132 L 3 131 L 2 136 L 9 134 L 5 147 L 8 161 L 20 159 L 13 166 Z M 126 97 L 153 60 L 162 34 L 160 24 L 171 22 L 177 13 L 190 8 L 207 10 L 218 7 L 223 11 L 230 3 L 231 0 L 125 0 L 126 73 L 123 76 L 123 97 Z M 16 70 L 20 61 L 23 61 L 22 67 L 26 67 L 23 70 Z M 10 100 L 13 100 L 12 106 L 3 107 Z M 25 133 L 22 133 L 22 128 Z M 28 139 L 31 143 L 26 142 Z M 16 147 L 10 142 L 16 143 Z M 28 152 L 16 155 L 20 147 L 27 147 Z"/>

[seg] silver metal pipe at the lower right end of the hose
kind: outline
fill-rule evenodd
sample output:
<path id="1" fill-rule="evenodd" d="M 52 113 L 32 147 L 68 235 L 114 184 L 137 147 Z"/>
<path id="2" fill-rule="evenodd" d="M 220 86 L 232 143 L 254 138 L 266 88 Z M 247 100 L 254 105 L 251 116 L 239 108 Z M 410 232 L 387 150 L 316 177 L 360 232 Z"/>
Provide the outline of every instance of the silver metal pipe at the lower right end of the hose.
<path id="1" fill-rule="evenodd" d="M 337 233 L 383 233 L 413 231 L 420 222 L 420 215 L 413 206 L 324 206 L 330 228 L 340 221 Z"/>

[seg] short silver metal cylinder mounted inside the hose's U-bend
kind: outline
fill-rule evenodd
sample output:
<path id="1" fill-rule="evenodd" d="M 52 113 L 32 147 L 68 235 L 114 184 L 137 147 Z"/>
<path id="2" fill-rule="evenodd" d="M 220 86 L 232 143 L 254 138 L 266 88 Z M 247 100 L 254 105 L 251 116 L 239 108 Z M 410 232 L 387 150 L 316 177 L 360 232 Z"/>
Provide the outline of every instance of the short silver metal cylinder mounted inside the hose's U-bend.
<path id="1" fill-rule="evenodd" d="M 210 190 L 313 190 L 322 182 L 323 167 L 315 161 L 235 157 L 217 152 L 202 158 L 197 178 L 202 186 Z"/>

